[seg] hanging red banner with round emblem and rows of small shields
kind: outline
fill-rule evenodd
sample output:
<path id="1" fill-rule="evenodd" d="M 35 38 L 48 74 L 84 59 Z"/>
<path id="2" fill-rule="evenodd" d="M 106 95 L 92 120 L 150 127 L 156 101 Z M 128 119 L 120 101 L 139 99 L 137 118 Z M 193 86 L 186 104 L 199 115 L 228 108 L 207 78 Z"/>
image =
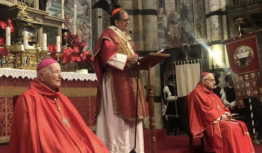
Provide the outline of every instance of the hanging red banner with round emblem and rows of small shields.
<path id="1" fill-rule="evenodd" d="M 261 68 L 256 32 L 224 41 L 230 68 L 233 72 L 238 107 L 244 107 L 244 98 L 262 100 Z"/>

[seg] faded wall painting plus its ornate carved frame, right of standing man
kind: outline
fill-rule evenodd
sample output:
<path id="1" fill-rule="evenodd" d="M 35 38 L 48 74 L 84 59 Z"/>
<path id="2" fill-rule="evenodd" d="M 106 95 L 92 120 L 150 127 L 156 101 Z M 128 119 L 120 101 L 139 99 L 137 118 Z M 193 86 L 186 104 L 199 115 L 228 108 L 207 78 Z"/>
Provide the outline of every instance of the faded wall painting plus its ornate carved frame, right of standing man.
<path id="1" fill-rule="evenodd" d="M 204 0 L 158 0 L 157 3 L 159 49 L 207 39 Z"/>

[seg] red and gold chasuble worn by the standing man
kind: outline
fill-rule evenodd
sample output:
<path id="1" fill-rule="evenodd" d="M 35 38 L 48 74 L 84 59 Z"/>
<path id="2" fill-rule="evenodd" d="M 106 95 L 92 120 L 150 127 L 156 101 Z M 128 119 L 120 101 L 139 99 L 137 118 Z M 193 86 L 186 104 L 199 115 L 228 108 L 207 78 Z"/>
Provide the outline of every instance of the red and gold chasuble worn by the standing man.
<path id="1" fill-rule="evenodd" d="M 105 45 L 110 45 L 111 48 L 108 48 Z M 103 72 L 111 71 L 114 112 L 119 113 L 124 119 L 134 121 L 136 109 L 137 71 L 128 70 L 127 67 L 125 67 L 124 70 L 119 70 L 107 65 L 107 62 L 117 53 L 127 56 L 132 55 L 126 45 L 126 42 L 112 29 L 107 28 L 98 39 L 94 53 L 94 69 L 98 78 L 97 116 L 101 108 Z M 138 56 L 137 54 L 135 55 Z M 141 82 L 141 75 L 138 85 L 139 92 L 137 115 L 138 119 L 142 119 L 148 117 L 148 108 L 145 100 L 144 88 Z"/>

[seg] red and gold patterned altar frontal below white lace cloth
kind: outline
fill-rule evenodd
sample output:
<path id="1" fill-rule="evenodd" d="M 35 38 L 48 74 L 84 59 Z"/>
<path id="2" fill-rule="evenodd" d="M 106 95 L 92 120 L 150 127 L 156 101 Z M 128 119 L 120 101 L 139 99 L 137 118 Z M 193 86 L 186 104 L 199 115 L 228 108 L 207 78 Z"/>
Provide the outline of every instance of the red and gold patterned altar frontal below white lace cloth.
<path id="1" fill-rule="evenodd" d="M 31 81 L 21 77 L 0 77 L 0 143 L 9 142 L 13 116 L 12 97 L 28 89 Z M 95 131 L 97 81 L 65 79 L 61 81 L 60 90 L 69 98 L 87 126 Z"/>

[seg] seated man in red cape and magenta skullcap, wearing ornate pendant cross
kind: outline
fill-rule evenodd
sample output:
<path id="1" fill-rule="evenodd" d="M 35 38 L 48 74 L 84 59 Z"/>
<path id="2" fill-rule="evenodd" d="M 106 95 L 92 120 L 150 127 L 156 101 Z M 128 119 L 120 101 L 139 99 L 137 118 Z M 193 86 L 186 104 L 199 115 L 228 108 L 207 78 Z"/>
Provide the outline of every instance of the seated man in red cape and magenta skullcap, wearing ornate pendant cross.
<path id="1" fill-rule="evenodd" d="M 53 59 L 37 67 L 37 78 L 15 105 L 10 153 L 108 153 L 108 149 L 61 94 L 61 68 Z"/>

